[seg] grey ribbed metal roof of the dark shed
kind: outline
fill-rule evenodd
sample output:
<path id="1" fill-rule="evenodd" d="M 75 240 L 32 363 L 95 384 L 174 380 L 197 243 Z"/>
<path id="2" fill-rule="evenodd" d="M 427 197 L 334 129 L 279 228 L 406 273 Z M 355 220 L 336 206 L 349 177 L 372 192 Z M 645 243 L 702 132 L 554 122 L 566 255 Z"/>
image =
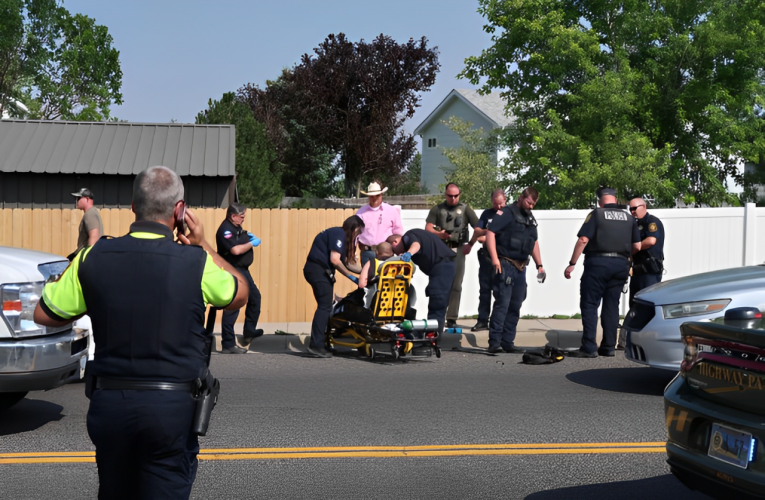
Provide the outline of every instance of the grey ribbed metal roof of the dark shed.
<path id="1" fill-rule="evenodd" d="M 0 121 L 0 172 L 134 175 L 164 165 L 181 176 L 231 177 L 233 125 Z"/>

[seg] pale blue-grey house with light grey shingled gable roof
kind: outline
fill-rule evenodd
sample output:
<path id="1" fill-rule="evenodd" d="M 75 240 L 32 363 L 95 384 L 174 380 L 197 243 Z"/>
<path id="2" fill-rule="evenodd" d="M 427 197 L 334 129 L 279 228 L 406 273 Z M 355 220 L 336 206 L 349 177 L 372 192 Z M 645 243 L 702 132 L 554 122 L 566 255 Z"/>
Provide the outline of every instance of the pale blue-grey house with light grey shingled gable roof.
<path id="1" fill-rule="evenodd" d="M 454 89 L 415 129 L 422 138 L 422 173 L 420 182 L 431 193 L 439 192 L 446 182 L 444 168 L 454 168 L 443 155 L 443 148 L 458 148 L 461 140 L 444 122 L 456 116 L 484 131 L 506 127 L 512 118 L 505 115 L 505 102 L 499 92 L 481 95 L 476 90 Z M 496 158 L 494 158 L 496 161 Z M 444 167 L 444 168 L 442 168 Z"/>

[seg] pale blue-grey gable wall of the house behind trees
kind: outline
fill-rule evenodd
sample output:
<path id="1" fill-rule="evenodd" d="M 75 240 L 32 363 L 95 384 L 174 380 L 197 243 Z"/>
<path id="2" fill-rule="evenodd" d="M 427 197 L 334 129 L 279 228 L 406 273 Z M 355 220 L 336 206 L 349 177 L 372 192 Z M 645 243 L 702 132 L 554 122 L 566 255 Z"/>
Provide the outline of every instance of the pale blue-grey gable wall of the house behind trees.
<path id="1" fill-rule="evenodd" d="M 458 97 L 453 97 L 449 104 L 433 117 L 430 125 L 422 130 L 422 173 L 421 182 L 431 194 L 439 193 L 439 185 L 446 183 L 446 172 L 441 166 L 452 166 L 443 155 L 443 148 L 459 148 L 462 141 L 443 122 L 452 116 L 468 121 L 474 128 L 483 128 L 488 132 L 493 128 L 485 116 L 466 104 Z M 436 147 L 428 147 L 428 139 L 436 139 Z M 453 167 L 453 166 L 452 166 Z"/>

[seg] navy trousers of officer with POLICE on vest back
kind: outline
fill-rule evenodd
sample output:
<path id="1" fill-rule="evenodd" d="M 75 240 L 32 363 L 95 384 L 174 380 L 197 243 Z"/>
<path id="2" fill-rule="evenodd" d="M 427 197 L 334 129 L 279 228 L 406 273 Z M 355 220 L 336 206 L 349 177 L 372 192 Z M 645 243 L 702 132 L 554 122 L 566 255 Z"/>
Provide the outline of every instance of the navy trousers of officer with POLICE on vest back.
<path id="1" fill-rule="evenodd" d="M 630 263 L 621 257 L 585 257 L 584 274 L 579 288 L 582 310 L 581 350 L 593 353 L 598 349 L 596 342 L 598 307 L 601 300 L 600 326 L 603 340 L 600 347 L 612 351 L 616 346 L 616 328 L 619 325 L 619 296 L 627 281 Z"/>

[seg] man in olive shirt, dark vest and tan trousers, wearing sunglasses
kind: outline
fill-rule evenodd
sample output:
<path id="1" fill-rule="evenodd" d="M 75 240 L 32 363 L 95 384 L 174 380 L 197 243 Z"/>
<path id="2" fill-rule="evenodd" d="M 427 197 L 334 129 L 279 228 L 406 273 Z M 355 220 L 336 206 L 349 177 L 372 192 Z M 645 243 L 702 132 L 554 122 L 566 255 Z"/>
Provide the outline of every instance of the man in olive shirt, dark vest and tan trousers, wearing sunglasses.
<path id="1" fill-rule="evenodd" d="M 455 252 L 457 272 L 454 275 L 449 293 L 449 306 L 446 310 L 446 327 L 452 328 L 457 323 L 462 295 L 462 277 L 465 274 L 465 256 L 470 253 L 470 230 L 478 226 L 478 217 L 472 208 L 460 202 L 460 188 L 450 182 L 446 185 L 446 201 L 430 209 L 425 219 L 425 230 L 435 234 Z"/>

